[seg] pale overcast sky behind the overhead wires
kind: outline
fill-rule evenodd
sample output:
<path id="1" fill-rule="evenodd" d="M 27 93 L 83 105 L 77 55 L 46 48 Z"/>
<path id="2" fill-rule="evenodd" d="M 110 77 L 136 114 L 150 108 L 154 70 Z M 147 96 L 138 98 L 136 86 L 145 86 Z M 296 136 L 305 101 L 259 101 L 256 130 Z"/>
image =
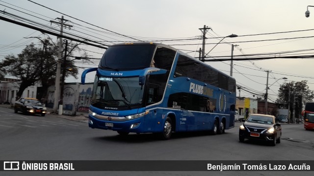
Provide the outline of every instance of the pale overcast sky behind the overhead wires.
<path id="1" fill-rule="evenodd" d="M 134 41 L 134 39 L 157 40 L 159 43 L 183 50 L 193 57 L 198 57 L 199 53 L 195 51 L 202 47 L 202 31 L 199 28 L 203 28 L 204 25 L 210 27 L 206 34 L 205 52 L 208 53 L 212 49 L 208 54 L 212 56 L 211 59 L 222 58 L 219 56 L 230 58 L 232 44 L 238 45 L 234 48 L 234 58 L 237 55 L 260 53 L 269 53 L 262 55 L 263 57 L 278 57 L 285 56 L 287 53 L 284 52 L 296 50 L 306 51 L 290 54 L 313 55 L 312 50 L 314 50 L 314 30 L 310 30 L 314 29 L 314 7 L 309 7 L 312 13 L 309 18 L 305 17 L 307 6 L 314 5 L 312 0 L 32 1 L 50 9 L 29 0 L 0 0 L 0 10 L 55 28 L 58 26 L 49 21 L 61 18 L 63 13 L 64 19 L 70 20 L 68 24 L 73 25 L 71 29 L 65 31 L 72 33 L 83 31 L 84 33 L 79 35 L 90 40 L 101 41 L 107 45 Z M 0 16 L 8 18 L 7 14 L 2 13 Z M 20 53 L 31 42 L 40 44 L 34 38 L 24 37 L 47 36 L 40 31 L 2 20 L 0 20 L 0 31 L 0 59 L 8 54 Z M 131 36 L 133 39 L 118 36 L 116 33 Z M 216 45 L 222 39 L 217 37 L 231 34 L 236 34 L 238 37 L 225 38 Z M 56 40 L 53 35 L 49 36 Z M 186 38 L 197 38 L 197 40 L 173 41 Z M 88 50 L 87 53 L 91 58 L 100 58 L 105 52 L 104 49 L 87 45 L 81 45 L 80 48 Z M 80 54 L 75 53 L 76 56 Z M 77 62 L 77 66 L 84 69 L 97 67 L 99 60 L 93 62 L 94 64 Z M 230 75 L 230 63 L 230 61 L 206 62 L 228 75 Z M 237 85 L 243 88 L 240 93 L 237 92 L 237 96 L 253 98 L 252 93 L 244 91 L 249 90 L 257 94 L 254 98 L 262 97 L 266 91 L 266 71 L 269 71 L 270 102 L 276 100 L 279 86 L 285 81 L 307 80 L 310 90 L 314 90 L 313 58 L 246 60 L 234 61 L 233 64 L 233 77 Z M 82 71 L 83 69 L 80 69 L 79 73 Z M 283 77 L 288 79 L 282 79 Z M 86 78 L 87 82 L 93 80 L 94 74 Z M 80 82 L 80 78 L 69 77 L 66 82 Z"/>

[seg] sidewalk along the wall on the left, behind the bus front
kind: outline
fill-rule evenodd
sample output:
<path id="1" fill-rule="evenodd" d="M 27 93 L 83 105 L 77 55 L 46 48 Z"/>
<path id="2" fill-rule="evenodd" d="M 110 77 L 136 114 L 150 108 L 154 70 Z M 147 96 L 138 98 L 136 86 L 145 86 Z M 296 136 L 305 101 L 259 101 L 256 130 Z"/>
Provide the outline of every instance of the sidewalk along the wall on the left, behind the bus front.
<path id="1" fill-rule="evenodd" d="M 12 104 L 0 104 L 0 107 L 10 108 L 13 110 Z M 77 112 L 76 116 L 67 116 L 67 115 L 63 115 L 63 114 L 62 115 L 54 114 L 54 113 L 52 113 L 52 108 L 47 108 L 47 115 L 62 118 L 62 119 L 77 121 L 77 122 L 84 122 L 84 123 L 88 122 L 88 111 L 87 112 Z"/>

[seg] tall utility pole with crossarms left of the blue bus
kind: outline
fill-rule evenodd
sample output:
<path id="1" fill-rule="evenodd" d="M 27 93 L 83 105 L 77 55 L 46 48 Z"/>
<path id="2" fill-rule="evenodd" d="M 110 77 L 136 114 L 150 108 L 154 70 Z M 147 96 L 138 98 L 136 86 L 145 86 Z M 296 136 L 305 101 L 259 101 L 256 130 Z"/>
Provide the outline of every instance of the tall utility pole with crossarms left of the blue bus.
<path id="1" fill-rule="evenodd" d="M 64 20 L 63 16 L 61 17 L 61 19 L 60 18 L 57 18 L 57 19 L 60 20 L 60 22 L 54 22 L 54 21 L 50 21 L 50 22 L 61 25 L 61 27 L 60 27 L 60 35 L 62 36 L 63 35 L 63 26 L 65 25 L 63 21 L 68 21 L 68 20 Z M 65 25 L 65 26 L 72 27 L 72 25 Z M 54 90 L 54 101 L 53 101 L 53 112 L 54 113 L 57 112 L 58 102 L 59 102 L 59 99 L 60 99 L 61 58 L 62 58 L 62 37 L 59 37 L 59 53 L 58 53 L 58 61 L 57 61 L 57 70 L 56 70 L 56 75 L 55 75 L 55 90 Z M 59 105 L 59 111 L 58 111 L 59 115 L 62 114 L 62 109 L 63 109 L 63 105 L 60 104 Z"/>

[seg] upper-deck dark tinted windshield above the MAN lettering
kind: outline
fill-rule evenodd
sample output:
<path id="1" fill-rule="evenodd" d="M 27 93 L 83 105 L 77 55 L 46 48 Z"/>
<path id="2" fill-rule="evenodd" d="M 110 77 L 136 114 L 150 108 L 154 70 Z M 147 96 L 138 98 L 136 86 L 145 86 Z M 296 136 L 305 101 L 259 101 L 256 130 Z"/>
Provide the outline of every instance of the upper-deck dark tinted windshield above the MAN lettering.
<path id="1" fill-rule="evenodd" d="M 100 68 L 113 70 L 134 70 L 150 67 L 154 45 L 122 45 L 109 47 L 100 64 Z"/>

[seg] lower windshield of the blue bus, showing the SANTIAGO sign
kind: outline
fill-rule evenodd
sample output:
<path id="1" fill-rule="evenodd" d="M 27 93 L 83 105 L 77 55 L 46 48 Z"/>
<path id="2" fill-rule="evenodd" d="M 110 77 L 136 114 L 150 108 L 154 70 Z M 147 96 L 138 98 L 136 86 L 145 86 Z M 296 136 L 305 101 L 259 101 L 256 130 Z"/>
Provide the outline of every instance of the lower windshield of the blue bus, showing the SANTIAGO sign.
<path id="1" fill-rule="evenodd" d="M 138 76 L 117 78 L 96 75 L 93 106 L 111 110 L 138 108 L 142 105 L 142 98 L 143 88 L 138 84 Z"/>

